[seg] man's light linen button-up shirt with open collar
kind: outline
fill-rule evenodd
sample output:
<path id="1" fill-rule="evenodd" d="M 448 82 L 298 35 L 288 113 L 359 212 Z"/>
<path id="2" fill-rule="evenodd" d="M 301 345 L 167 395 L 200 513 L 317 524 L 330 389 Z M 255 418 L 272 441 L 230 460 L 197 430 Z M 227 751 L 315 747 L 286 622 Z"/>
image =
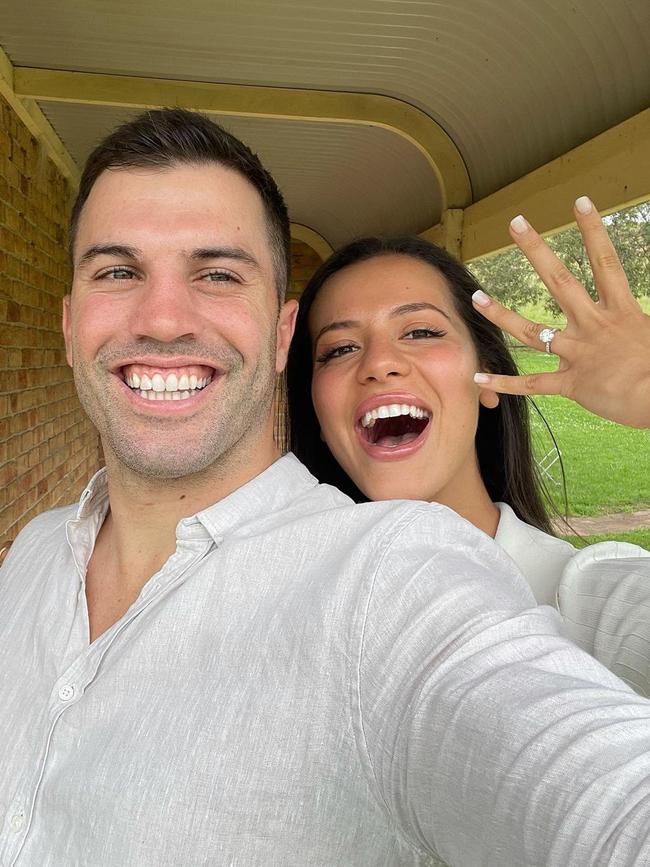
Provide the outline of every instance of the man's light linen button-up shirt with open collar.
<path id="1" fill-rule="evenodd" d="M 89 644 L 106 508 L 0 571 L 3 867 L 650 863 L 650 705 L 449 510 L 285 456 Z"/>

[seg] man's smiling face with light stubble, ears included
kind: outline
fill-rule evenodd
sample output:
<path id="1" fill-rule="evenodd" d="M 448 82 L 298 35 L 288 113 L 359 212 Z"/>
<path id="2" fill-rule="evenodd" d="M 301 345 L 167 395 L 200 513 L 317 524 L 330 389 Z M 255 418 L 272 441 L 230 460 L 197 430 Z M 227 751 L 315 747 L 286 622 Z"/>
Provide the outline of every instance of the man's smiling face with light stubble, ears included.
<path id="1" fill-rule="evenodd" d="M 67 357 L 107 460 L 170 479 L 268 449 L 278 318 L 261 199 L 218 165 L 105 171 L 84 205 Z"/>

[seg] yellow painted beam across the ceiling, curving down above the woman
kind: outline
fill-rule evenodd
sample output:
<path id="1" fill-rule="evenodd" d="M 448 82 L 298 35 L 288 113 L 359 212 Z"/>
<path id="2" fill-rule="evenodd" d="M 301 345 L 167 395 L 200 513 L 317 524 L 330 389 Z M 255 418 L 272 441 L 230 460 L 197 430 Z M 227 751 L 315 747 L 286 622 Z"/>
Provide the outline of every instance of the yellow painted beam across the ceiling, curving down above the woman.
<path id="1" fill-rule="evenodd" d="M 180 106 L 220 115 L 378 126 L 405 138 L 428 160 L 440 184 L 443 209 L 472 200 L 467 169 L 451 138 L 432 118 L 399 99 L 252 85 L 176 81 L 16 67 L 21 97 L 120 107 Z"/>

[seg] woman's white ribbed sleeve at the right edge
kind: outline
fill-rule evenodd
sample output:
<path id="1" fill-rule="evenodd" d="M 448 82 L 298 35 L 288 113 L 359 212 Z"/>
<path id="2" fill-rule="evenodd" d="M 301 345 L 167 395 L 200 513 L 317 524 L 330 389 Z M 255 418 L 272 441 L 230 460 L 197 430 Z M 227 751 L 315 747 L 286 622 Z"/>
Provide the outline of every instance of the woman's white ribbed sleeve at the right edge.
<path id="1" fill-rule="evenodd" d="M 578 551 L 558 600 L 569 637 L 641 695 L 650 695 L 650 552 L 625 542 Z"/>

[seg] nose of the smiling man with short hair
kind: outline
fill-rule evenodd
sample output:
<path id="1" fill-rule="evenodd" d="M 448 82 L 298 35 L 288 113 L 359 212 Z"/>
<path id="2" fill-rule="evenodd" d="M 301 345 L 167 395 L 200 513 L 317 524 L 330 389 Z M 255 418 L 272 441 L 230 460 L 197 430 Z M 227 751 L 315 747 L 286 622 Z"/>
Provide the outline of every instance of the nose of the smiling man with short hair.
<path id="1" fill-rule="evenodd" d="M 138 293 L 138 302 L 131 320 L 135 337 L 171 343 L 196 333 L 195 305 L 184 279 L 149 275 Z"/>

